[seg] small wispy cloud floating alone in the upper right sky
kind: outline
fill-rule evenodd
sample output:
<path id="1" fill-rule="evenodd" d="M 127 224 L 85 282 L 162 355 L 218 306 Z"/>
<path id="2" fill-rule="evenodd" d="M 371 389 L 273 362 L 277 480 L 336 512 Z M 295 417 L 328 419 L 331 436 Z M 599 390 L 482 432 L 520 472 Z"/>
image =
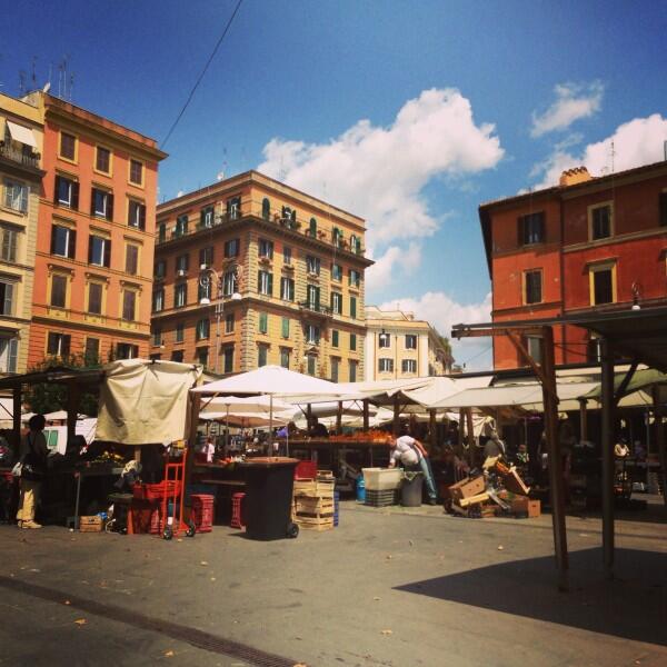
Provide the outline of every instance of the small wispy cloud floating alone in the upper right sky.
<path id="1" fill-rule="evenodd" d="M 531 137 L 561 131 L 580 118 L 588 118 L 599 111 L 604 86 L 594 81 L 588 86 L 559 83 L 554 88 L 556 101 L 541 115 L 532 113 Z"/>

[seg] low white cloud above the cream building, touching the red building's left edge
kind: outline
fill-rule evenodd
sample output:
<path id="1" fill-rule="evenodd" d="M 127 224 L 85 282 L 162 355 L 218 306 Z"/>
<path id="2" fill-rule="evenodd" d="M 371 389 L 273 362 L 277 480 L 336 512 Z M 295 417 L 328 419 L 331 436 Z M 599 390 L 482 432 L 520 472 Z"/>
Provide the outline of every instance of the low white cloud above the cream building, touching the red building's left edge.
<path id="1" fill-rule="evenodd" d="M 429 291 L 419 298 L 394 299 L 381 303 L 381 310 L 400 309 L 414 312 L 417 319 L 430 322 L 439 334 L 450 338 L 454 325 L 470 325 L 491 320 L 491 295 L 479 303 L 459 303 L 442 291 Z M 457 364 L 466 362 L 466 370 L 487 370 L 492 367 L 492 341 L 490 338 L 451 340 Z"/>

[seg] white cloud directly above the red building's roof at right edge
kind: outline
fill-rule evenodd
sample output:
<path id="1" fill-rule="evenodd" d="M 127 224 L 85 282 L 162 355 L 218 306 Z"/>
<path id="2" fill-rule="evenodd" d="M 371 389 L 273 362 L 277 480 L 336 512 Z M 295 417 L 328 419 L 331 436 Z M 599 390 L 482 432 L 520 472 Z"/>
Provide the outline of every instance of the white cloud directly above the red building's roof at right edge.
<path id="1" fill-rule="evenodd" d="M 579 155 L 573 155 L 567 147 L 558 146 L 544 165 L 534 168 L 532 173 L 544 175 L 536 188 L 558 183 L 560 173 L 573 167 L 585 166 L 593 176 L 605 176 L 613 170 L 617 172 L 659 162 L 665 158 L 665 140 L 667 119 L 654 113 L 619 126 L 614 135 L 603 141 L 589 143 Z"/>

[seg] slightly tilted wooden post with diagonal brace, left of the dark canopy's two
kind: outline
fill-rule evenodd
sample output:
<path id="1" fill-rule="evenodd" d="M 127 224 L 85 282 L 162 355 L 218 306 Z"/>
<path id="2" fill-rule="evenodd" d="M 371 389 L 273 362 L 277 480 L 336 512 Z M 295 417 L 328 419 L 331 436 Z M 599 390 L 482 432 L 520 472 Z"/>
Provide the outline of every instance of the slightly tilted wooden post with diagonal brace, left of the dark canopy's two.
<path id="1" fill-rule="evenodd" d="M 558 588 L 568 590 L 567 532 L 565 525 L 565 496 L 563 460 L 558 441 L 558 395 L 556 392 L 556 365 L 554 358 L 554 329 L 542 327 L 542 402 L 545 406 L 545 432 L 549 452 L 549 494 L 551 497 L 551 522 Z"/>

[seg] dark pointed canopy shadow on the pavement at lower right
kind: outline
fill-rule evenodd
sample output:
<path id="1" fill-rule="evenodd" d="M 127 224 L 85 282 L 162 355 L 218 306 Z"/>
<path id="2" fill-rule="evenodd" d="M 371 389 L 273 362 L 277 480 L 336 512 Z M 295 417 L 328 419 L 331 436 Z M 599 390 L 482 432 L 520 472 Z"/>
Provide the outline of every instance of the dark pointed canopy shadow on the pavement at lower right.
<path id="1" fill-rule="evenodd" d="M 667 646 L 667 554 L 616 550 L 616 579 L 600 549 L 570 554 L 570 593 L 556 589 L 554 557 L 512 560 L 399 586 L 514 616 Z"/>

